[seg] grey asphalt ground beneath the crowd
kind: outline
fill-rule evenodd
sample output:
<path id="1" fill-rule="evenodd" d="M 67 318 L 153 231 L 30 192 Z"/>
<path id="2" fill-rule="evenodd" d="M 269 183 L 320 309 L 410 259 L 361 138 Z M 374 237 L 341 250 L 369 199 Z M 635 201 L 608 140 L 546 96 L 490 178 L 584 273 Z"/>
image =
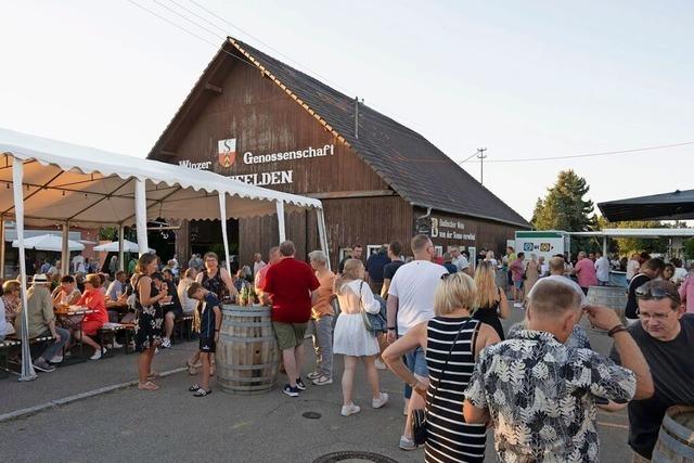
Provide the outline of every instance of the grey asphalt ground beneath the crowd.
<path id="1" fill-rule="evenodd" d="M 504 324 L 522 318 L 523 310 L 514 309 Z M 611 347 L 604 334 L 589 331 L 589 335 L 597 351 L 605 353 Z M 195 345 L 179 344 L 164 350 L 155 358 L 155 369 L 180 368 Z M 307 340 L 307 352 L 308 347 Z M 312 365 L 312 355 L 307 358 L 304 374 Z M 134 360 L 134 356 L 117 355 L 61 368 L 31 383 L 2 380 L 0 413 L 130 382 L 136 377 Z M 337 356 L 335 360 L 339 377 L 342 359 Z M 371 409 L 360 369 L 355 402 L 362 411 L 343 417 L 337 382 L 309 385 L 299 398 L 288 398 L 279 388 L 262 396 L 234 396 L 215 389 L 208 397 L 195 398 L 188 393 L 195 378 L 179 372 L 159 380 L 162 388 L 156 393 L 125 387 L 2 422 L 0 452 L 8 462 L 313 462 L 326 453 L 355 450 L 398 462 L 422 462 L 423 450 L 404 452 L 397 447 L 404 420 L 401 383 L 387 371 L 381 378 L 389 403 Z M 305 412 L 317 412 L 320 419 L 303 417 Z M 630 461 L 626 412 L 599 412 L 597 421 L 601 461 Z M 486 461 L 496 461 L 492 449 L 489 437 Z"/>

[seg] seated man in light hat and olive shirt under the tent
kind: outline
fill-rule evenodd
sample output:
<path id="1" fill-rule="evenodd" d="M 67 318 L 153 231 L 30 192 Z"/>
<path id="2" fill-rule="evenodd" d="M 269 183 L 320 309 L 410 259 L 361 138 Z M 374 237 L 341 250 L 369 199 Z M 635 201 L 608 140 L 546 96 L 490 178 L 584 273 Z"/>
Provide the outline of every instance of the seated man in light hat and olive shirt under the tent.
<path id="1" fill-rule="evenodd" d="M 38 336 L 53 336 L 55 339 L 50 343 L 48 348 L 39 358 L 34 360 L 34 368 L 42 372 L 52 372 L 55 366 L 49 361 L 63 360 L 63 346 L 69 340 L 69 331 L 55 326 L 55 314 L 53 313 L 53 301 L 51 300 L 51 292 L 48 287 L 48 278 L 38 273 L 34 275 L 34 283 L 27 291 L 26 311 L 29 321 L 29 338 Z M 22 308 L 21 310 L 25 310 Z M 15 331 L 22 333 L 22 314 L 15 320 Z"/>

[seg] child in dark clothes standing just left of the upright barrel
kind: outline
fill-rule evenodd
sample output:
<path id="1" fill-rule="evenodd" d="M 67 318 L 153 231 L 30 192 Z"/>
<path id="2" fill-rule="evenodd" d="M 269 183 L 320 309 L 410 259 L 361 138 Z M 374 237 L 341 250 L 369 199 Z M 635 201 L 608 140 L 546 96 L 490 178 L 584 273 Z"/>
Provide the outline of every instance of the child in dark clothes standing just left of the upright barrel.
<path id="1" fill-rule="evenodd" d="M 188 390 L 195 397 L 205 397 L 211 393 L 209 388 L 209 371 L 211 357 L 215 355 L 217 340 L 219 339 L 219 326 L 221 325 L 221 304 L 214 293 L 205 290 L 197 282 L 191 283 L 188 288 L 188 297 L 196 299 L 200 313 L 200 359 L 203 363 L 200 383 Z"/>

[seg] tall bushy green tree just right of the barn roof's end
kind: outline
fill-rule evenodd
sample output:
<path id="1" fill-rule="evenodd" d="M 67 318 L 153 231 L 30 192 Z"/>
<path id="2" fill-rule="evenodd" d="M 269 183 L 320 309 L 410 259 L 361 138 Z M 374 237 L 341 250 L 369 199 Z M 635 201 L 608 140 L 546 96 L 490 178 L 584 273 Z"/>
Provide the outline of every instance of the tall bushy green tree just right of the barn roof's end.
<path id="1" fill-rule="evenodd" d="M 593 202 L 583 200 L 590 187 L 573 170 L 562 170 L 548 194 L 538 198 L 532 214 L 536 230 L 590 231 L 595 226 Z"/>

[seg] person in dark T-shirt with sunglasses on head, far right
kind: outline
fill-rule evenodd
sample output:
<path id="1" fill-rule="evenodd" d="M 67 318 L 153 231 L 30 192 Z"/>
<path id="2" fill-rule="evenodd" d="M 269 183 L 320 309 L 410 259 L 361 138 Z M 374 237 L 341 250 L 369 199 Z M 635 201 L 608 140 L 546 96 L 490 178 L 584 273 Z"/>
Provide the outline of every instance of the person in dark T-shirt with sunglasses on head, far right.
<path id="1" fill-rule="evenodd" d="M 684 313 L 676 286 L 653 280 L 634 291 L 640 322 L 629 326 L 651 368 L 655 394 L 629 402 L 629 445 L 634 462 L 651 461 L 665 411 L 694 404 L 694 314 Z M 611 358 L 619 363 L 613 348 Z"/>

